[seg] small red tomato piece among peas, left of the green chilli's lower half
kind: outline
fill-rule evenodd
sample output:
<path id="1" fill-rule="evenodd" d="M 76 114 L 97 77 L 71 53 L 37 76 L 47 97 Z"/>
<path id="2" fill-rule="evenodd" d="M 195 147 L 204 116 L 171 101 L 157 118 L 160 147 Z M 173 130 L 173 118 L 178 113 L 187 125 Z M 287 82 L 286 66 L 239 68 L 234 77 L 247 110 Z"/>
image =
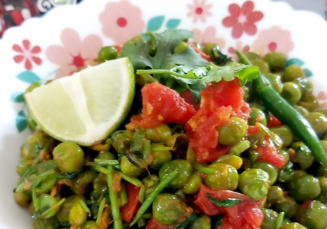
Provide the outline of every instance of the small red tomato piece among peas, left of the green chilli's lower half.
<path id="1" fill-rule="evenodd" d="M 258 152 L 258 160 L 266 161 L 276 168 L 281 168 L 285 164 L 284 157 L 277 154 L 276 147 L 267 135 L 264 136 L 264 143 L 256 146 L 255 151 Z"/>

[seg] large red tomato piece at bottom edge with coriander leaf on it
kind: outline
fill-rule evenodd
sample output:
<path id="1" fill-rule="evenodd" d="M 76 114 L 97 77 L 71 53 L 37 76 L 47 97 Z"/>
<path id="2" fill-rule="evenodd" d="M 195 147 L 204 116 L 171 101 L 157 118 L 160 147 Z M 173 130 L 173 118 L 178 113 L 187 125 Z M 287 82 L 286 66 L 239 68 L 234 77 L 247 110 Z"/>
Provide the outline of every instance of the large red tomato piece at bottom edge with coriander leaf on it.
<path id="1" fill-rule="evenodd" d="M 207 198 L 207 193 L 217 200 L 239 198 L 241 202 L 231 207 L 218 207 Z M 249 196 L 230 191 L 216 190 L 201 185 L 194 202 L 206 215 L 224 215 L 219 229 L 257 229 L 263 221 L 260 205 Z"/>

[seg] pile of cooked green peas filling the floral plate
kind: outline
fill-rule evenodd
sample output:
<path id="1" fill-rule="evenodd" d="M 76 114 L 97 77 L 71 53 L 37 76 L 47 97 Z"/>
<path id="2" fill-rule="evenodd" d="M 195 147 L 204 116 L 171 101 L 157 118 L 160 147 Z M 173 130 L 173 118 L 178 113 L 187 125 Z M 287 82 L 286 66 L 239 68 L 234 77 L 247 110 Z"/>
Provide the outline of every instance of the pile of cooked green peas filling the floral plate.
<path id="1" fill-rule="evenodd" d="M 199 47 L 214 63 L 228 64 L 215 44 Z M 286 66 L 282 53 L 270 52 L 263 58 L 252 52 L 245 54 L 260 68 L 271 87 L 310 122 L 327 152 L 327 110 L 318 109 L 312 83 L 301 68 Z M 117 56 L 117 50 L 107 46 L 99 52 L 98 61 Z M 31 85 L 28 91 L 37 86 Z M 87 148 L 53 139 L 29 117 L 33 134 L 21 147 L 21 159 L 16 167 L 20 179 L 14 199 L 29 209 L 36 229 L 100 228 L 102 202 L 110 205 L 110 200 L 108 176 L 99 167 L 112 163 L 114 173 L 122 179 L 123 188 L 118 192 L 120 206 L 126 204 L 127 182 L 141 188 L 138 198 L 145 203 L 160 181 L 177 171 L 167 187 L 154 197 L 151 207 L 131 226 L 134 228 L 145 227 L 151 217 L 166 225 L 181 224 L 194 211 L 188 205 L 188 197 L 196 195 L 204 184 L 261 201 L 264 214 L 261 229 L 276 228 L 281 215 L 284 216 L 279 223 L 281 229 L 324 229 L 327 227 L 327 168 L 314 160 L 310 149 L 287 125 L 267 127 L 272 115 L 254 95 L 251 82 L 244 87 L 244 99 L 250 105 L 249 119 L 232 117 L 217 129 L 219 144 L 231 150 L 211 163 L 196 162 L 195 153 L 187 147 L 186 135 L 179 125 L 122 129 Z M 248 136 L 248 126 L 255 123 L 260 123 L 265 131 Z M 258 160 L 258 153 L 253 150 L 267 133 L 277 153 L 284 157 L 282 168 Z M 112 215 L 113 212 L 108 214 L 109 221 Z M 130 227 L 128 223 L 123 226 Z M 188 228 L 213 228 L 212 218 L 200 215 Z"/>

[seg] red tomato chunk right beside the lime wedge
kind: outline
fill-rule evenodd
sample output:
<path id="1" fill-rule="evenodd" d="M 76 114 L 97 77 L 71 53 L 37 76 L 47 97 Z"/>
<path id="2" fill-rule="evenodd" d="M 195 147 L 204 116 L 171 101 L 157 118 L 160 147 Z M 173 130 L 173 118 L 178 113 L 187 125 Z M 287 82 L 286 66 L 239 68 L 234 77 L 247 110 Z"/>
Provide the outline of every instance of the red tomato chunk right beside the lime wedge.
<path id="1" fill-rule="evenodd" d="M 184 123 L 195 115 L 194 107 L 174 90 L 160 83 L 146 84 L 142 89 L 142 120 L 137 124 L 143 128 L 154 128 L 161 123 Z"/>

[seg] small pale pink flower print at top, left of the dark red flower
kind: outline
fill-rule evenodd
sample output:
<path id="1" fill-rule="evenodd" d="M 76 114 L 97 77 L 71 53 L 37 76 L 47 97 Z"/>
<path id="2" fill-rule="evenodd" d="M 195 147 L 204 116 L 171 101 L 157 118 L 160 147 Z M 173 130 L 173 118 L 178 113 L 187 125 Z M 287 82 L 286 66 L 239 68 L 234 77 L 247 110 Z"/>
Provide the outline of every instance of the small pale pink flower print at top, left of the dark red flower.
<path id="1" fill-rule="evenodd" d="M 193 5 L 188 5 L 188 17 L 193 17 L 194 23 L 198 20 L 205 22 L 205 17 L 212 15 L 210 12 L 212 7 L 212 4 L 205 4 L 205 0 L 193 0 Z"/>

